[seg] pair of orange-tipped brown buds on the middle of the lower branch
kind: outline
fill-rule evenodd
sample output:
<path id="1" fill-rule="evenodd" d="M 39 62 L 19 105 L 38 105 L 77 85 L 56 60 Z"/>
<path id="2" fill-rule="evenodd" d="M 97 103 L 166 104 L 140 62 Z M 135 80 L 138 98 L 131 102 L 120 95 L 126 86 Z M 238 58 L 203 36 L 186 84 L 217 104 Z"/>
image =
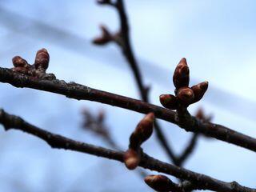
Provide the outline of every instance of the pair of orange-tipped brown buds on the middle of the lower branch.
<path id="1" fill-rule="evenodd" d="M 154 114 L 146 114 L 142 121 L 138 123 L 138 126 L 134 132 L 130 135 L 129 149 L 124 154 L 124 162 L 129 170 L 134 170 L 142 157 L 141 145 L 146 142 L 153 133 L 154 127 Z"/>

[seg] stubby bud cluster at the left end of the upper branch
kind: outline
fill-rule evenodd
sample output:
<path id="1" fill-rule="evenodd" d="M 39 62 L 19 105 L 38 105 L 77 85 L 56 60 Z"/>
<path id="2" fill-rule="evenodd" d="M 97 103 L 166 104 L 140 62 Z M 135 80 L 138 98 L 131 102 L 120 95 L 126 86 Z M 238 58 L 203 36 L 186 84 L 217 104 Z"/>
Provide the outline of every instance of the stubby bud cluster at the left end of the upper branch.
<path id="1" fill-rule="evenodd" d="M 14 64 L 13 71 L 22 74 L 30 75 L 36 78 L 46 77 L 46 70 L 49 66 L 50 56 L 46 49 L 38 50 L 34 64 L 30 65 L 26 60 L 20 56 L 15 56 L 12 59 Z"/>

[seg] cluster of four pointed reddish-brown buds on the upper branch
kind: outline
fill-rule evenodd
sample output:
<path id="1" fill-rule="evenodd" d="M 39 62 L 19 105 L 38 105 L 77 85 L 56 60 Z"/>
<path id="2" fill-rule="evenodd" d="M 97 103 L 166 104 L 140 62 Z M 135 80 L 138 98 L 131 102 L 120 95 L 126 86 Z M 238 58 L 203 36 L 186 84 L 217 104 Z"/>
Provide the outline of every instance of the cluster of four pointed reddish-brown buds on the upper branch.
<path id="1" fill-rule="evenodd" d="M 190 87 L 190 69 L 187 66 L 186 58 L 176 66 L 173 76 L 175 86 L 175 96 L 173 94 L 160 95 L 160 102 L 162 106 L 170 109 L 177 110 L 178 106 L 189 106 L 194 102 L 201 100 L 208 88 L 208 82 L 201 82 L 195 86 Z"/>

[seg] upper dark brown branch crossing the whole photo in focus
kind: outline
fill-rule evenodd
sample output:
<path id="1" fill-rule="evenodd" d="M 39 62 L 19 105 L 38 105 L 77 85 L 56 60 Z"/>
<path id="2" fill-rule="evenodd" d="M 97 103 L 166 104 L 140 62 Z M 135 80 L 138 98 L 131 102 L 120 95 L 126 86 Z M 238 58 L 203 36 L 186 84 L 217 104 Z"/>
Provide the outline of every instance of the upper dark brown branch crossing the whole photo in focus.
<path id="1" fill-rule="evenodd" d="M 45 90 L 55 94 L 65 95 L 67 98 L 78 100 L 90 100 L 102 102 L 111 106 L 118 106 L 138 113 L 148 114 L 153 112 L 156 118 L 172 122 L 186 131 L 205 134 L 224 142 L 242 146 L 248 150 L 256 151 L 256 139 L 245 134 L 230 130 L 225 126 L 204 122 L 193 116 L 188 116 L 185 122 L 178 121 L 177 114 L 172 110 L 164 109 L 138 99 L 127 98 L 118 94 L 111 94 L 102 90 L 95 90 L 88 86 L 82 86 L 75 82 L 66 83 L 58 79 L 46 80 L 33 78 L 24 74 L 13 72 L 10 69 L 0 67 L 0 82 L 7 82 L 16 87 L 28 87 L 35 90 Z"/>

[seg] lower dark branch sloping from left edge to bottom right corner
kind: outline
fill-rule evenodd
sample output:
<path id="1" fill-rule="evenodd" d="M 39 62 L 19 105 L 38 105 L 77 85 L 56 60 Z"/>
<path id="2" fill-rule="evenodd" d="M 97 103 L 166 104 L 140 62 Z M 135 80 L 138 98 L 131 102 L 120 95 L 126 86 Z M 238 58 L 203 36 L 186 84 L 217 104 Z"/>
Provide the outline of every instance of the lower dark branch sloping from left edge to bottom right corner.
<path id="1" fill-rule="evenodd" d="M 118 162 L 123 162 L 123 152 L 109 150 L 103 147 L 90 145 L 84 142 L 77 142 L 70 138 L 63 137 L 59 134 L 52 134 L 49 131 L 42 130 L 36 126 L 25 122 L 18 116 L 7 114 L 4 110 L 0 110 L 0 123 L 5 130 L 15 129 L 22 130 L 28 134 L 33 134 L 38 138 L 42 138 L 52 148 L 74 150 L 86 154 L 93 154 L 102 158 L 109 158 Z M 139 166 L 145 169 L 155 170 L 161 173 L 173 175 L 176 178 L 186 179 L 193 182 L 198 190 L 214 190 L 225 192 L 256 192 L 256 190 L 240 186 L 237 182 L 222 182 L 215 178 L 210 178 L 204 174 L 198 174 L 190 170 L 179 168 L 171 164 L 161 162 L 144 154 Z"/>

